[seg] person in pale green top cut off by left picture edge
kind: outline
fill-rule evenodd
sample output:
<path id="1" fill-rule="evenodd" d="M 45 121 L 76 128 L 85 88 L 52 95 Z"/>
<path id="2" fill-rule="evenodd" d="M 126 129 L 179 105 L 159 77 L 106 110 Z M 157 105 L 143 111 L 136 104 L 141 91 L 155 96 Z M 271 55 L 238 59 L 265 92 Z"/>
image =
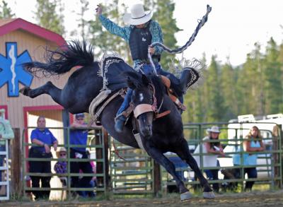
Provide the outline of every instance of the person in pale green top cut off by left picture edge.
<path id="1" fill-rule="evenodd" d="M 13 129 L 10 122 L 5 119 L 5 110 L 0 110 L 0 151 L 6 151 L 6 139 L 14 138 Z M 4 165 L 5 155 L 0 155 L 0 167 Z M 8 158 L 6 158 L 8 159 Z M 0 182 L 2 181 L 2 172 L 0 170 Z M 1 189 L 2 185 L 0 186 Z"/>

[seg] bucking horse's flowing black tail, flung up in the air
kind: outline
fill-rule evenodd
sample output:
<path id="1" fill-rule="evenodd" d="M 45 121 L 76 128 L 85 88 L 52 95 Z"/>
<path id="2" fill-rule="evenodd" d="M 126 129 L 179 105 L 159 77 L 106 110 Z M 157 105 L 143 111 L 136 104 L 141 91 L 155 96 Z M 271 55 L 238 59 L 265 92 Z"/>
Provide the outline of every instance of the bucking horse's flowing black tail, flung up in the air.
<path id="1" fill-rule="evenodd" d="M 67 73 L 74 66 L 91 66 L 94 61 L 93 47 L 84 40 L 72 40 L 54 51 L 46 49 L 45 61 L 30 61 L 23 66 L 30 73 L 40 71 L 43 76 Z"/>

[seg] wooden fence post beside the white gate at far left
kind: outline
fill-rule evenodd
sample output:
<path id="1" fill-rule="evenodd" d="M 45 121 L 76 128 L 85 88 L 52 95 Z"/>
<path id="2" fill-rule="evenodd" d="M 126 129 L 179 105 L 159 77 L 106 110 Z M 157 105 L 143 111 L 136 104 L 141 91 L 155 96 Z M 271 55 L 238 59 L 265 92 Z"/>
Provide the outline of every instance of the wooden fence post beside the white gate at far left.
<path id="1" fill-rule="evenodd" d="M 21 131 L 13 129 L 15 138 L 11 140 L 11 191 L 15 199 L 22 195 L 21 181 Z"/>

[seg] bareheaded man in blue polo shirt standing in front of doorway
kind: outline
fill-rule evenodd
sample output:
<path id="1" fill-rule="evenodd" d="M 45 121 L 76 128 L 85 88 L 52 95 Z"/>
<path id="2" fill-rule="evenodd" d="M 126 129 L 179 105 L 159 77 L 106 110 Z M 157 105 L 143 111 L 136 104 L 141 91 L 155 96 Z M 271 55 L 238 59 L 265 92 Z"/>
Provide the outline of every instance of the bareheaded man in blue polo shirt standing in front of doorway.
<path id="1" fill-rule="evenodd" d="M 51 131 L 46 128 L 45 117 L 38 117 L 37 128 L 33 129 L 30 135 L 31 142 L 37 146 L 32 146 L 29 151 L 29 158 L 42 158 L 40 161 L 30 161 L 30 172 L 51 173 L 51 162 L 43 161 L 44 158 L 52 158 L 50 152 L 51 146 L 54 150 L 57 150 L 57 138 L 53 136 Z M 51 176 L 30 176 L 32 181 L 32 187 L 38 188 L 50 188 Z M 33 191 L 35 200 L 37 199 L 49 199 L 50 190 L 47 191 Z"/>

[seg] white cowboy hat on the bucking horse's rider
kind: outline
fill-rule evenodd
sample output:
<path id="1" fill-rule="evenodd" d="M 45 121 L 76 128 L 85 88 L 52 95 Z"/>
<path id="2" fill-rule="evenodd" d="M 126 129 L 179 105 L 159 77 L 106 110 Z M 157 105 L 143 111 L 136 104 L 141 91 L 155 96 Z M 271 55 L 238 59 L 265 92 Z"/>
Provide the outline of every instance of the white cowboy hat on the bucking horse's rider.
<path id="1" fill-rule="evenodd" d="M 123 19 L 127 25 L 141 25 L 151 20 L 152 16 L 151 11 L 144 11 L 142 4 L 134 4 L 131 13 L 125 13 Z"/>

